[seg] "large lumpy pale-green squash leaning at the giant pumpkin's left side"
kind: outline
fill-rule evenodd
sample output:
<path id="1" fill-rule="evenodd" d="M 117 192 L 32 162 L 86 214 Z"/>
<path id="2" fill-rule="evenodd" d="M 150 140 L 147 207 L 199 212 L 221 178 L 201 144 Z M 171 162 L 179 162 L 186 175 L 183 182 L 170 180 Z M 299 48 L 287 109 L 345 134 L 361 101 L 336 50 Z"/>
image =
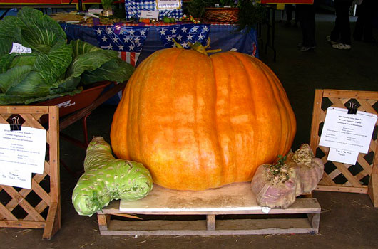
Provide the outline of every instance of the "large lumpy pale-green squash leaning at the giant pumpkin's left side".
<path id="1" fill-rule="evenodd" d="M 73 189 L 78 214 L 91 216 L 112 200 L 136 201 L 153 188 L 148 169 L 135 161 L 115 159 L 103 137 L 93 137 L 86 150 L 84 174 Z"/>

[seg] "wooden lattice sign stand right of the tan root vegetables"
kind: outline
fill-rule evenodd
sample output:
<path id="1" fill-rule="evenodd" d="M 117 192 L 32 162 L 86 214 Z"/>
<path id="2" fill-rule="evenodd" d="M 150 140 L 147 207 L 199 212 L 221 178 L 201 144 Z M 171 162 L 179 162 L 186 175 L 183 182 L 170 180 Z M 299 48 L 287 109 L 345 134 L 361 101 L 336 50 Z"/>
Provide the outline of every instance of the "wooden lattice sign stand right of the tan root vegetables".
<path id="1" fill-rule="evenodd" d="M 325 174 L 323 174 L 317 190 L 369 194 L 374 206 L 378 207 L 378 122 L 374 127 L 369 152 L 367 154 L 359 153 L 355 165 L 328 161 L 327 156 L 330 148 L 319 146 L 327 108 L 341 107 L 348 109 L 351 103 L 357 105 L 359 111 L 377 115 L 378 92 L 315 90 L 310 146 L 316 156 L 325 163 Z"/>

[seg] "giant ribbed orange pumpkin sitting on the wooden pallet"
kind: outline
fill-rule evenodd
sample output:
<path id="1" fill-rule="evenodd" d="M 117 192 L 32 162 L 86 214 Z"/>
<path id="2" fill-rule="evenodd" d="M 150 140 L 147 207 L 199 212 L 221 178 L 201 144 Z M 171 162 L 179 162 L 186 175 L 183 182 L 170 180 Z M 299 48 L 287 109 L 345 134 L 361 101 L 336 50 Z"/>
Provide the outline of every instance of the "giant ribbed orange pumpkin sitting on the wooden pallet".
<path id="1" fill-rule="evenodd" d="M 257 58 L 168 48 L 128 80 L 111 145 L 118 158 L 143 163 L 155 184 L 204 190 L 250 181 L 289 151 L 295 130 L 284 88 Z"/>

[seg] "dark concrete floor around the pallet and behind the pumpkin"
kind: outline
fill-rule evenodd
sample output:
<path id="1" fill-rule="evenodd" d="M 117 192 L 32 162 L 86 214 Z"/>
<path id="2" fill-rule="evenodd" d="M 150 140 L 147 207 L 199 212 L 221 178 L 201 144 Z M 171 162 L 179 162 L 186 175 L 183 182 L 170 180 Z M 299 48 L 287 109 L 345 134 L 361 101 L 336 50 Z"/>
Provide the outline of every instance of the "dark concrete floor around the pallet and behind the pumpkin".
<path id="1" fill-rule="evenodd" d="M 298 128 L 293 149 L 309 142 L 316 88 L 378 90 L 377 44 L 352 42 L 350 51 L 334 50 L 325 41 L 332 29 L 330 16 L 317 17 L 315 51 L 297 51 L 300 28 L 284 28 L 280 23 L 277 61 L 273 62 L 270 49 L 267 54 L 260 50 L 260 59 L 280 78 L 295 111 Z M 378 38 L 377 30 L 374 33 Z M 103 105 L 89 116 L 90 137 L 101 135 L 109 141 L 114 110 Z M 64 132 L 80 138 L 81 123 Z M 71 169 L 82 169 L 84 153 L 61 139 L 61 159 Z M 320 232 L 315 235 L 105 236 L 98 231 L 96 216 L 78 216 L 73 209 L 71 193 L 77 179 L 61 167 L 62 228 L 51 240 L 41 240 L 43 231 L 38 229 L 0 228 L 0 248 L 378 248 L 378 209 L 366 194 L 315 191 L 322 207 Z"/>

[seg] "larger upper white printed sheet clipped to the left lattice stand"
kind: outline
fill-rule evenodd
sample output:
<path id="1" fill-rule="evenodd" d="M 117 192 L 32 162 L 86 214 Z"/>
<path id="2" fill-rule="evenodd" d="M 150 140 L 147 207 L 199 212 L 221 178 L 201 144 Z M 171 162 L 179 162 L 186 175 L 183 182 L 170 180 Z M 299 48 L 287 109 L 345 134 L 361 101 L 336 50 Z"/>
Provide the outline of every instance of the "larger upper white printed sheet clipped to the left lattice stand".
<path id="1" fill-rule="evenodd" d="M 44 173 L 46 129 L 21 127 L 11 131 L 9 124 L 0 124 L 0 168 Z"/>

